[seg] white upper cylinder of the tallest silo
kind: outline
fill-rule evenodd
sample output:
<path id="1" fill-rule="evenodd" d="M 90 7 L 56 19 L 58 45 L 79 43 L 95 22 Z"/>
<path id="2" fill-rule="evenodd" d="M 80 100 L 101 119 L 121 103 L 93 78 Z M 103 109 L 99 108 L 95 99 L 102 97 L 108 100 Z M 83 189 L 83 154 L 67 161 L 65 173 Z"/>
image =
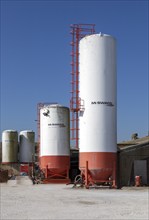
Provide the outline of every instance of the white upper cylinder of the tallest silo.
<path id="1" fill-rule="evenodd" d="M 105 34 L 80 41 L 80 152 L 116 152 L 116 41 Z"/>

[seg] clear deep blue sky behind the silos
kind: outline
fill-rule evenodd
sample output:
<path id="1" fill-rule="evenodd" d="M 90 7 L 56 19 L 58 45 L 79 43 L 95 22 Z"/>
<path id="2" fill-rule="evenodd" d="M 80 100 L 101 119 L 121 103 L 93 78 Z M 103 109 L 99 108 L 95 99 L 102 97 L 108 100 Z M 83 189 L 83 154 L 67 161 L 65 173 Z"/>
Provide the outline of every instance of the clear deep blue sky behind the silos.
<path id="1" fill-rule="evenodd" d="M 148 135 L 148 1 L 1 0 L 1 132 L 37 133 L 37 103 L 69 107 L 70 24 L 117 39 L 117 136 Z"/>

